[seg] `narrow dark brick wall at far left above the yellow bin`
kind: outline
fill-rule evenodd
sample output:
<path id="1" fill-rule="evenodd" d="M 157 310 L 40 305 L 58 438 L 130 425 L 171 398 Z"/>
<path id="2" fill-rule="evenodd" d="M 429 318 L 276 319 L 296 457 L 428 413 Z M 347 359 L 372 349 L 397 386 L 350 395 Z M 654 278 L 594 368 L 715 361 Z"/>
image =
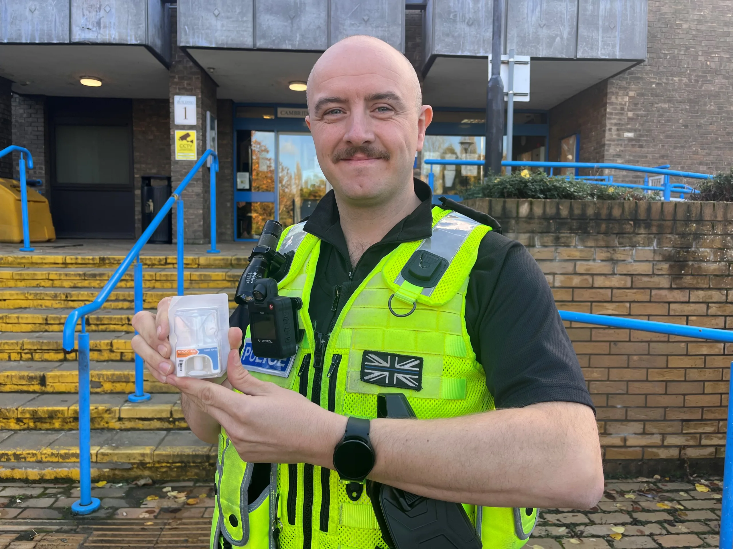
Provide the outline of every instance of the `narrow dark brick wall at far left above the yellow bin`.
<path id="1" fill-rule="evenodd" d="M 33 155 L 33 169 L 26 169 L 28 179 L 40 179 L 46 187 L 45 96 L 12 94 L 12 143 L 28 149 Z M 12 176 L 18 179 L 18 157 L 13 155 Z"/>

